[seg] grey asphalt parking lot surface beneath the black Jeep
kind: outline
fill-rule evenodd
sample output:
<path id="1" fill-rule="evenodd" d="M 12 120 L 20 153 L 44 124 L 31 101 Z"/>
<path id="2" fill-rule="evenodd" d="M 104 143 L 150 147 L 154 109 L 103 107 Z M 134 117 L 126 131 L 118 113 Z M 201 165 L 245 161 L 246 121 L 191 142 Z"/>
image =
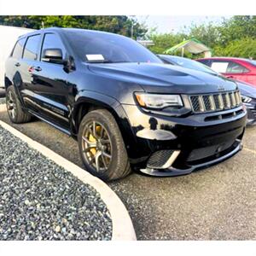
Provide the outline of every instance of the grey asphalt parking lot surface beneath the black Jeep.
<path id="1" fill-rule="evenodd" d="M 9 123 L 7 113 L 0 119 Z M 28 137 L 81 166 L 73 138 L 38 119 L 13 125 Z M 138 240 L 256 239 L 256 126 L 243 150 L 218 166 L 183 177 L 132 173 L 108 183 L 125 203 Z"/>

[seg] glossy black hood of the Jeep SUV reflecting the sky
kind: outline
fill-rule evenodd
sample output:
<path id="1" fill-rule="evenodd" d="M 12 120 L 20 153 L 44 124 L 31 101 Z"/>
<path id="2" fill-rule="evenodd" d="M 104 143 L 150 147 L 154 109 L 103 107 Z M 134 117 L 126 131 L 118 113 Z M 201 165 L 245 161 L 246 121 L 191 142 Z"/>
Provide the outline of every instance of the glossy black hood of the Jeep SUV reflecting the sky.
<path id="1" fill-rule="evenodd" d="M 156 63 L 97 63 L 88 68 L 108 79 L 140 84 L 147 92 L 207 93 L 236 90 L 236 83 L 224 77 Z"/>

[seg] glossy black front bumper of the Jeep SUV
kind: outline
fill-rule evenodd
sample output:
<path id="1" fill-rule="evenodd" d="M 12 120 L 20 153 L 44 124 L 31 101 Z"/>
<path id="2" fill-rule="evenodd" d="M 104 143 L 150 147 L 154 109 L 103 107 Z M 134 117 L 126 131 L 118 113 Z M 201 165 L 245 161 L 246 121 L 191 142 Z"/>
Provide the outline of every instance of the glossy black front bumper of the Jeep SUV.
<path id="1" fill-rule="evenodd" d="M 123 108 L 135 140 L 127 150 L 131 165 L 149 175 L 187 174 L 217 164 L 241 150 L 247 120 L 247 114 L 241 108 L 185 117 L 144 113 L 131 105 Z M 209 119 L 209 116 L 216 114 L 222 114 L 224 118 Z M 160 150 L 180 153 L 172 161 L 172 166 L 165 169 L 148 166 L 150 157 Z"/>

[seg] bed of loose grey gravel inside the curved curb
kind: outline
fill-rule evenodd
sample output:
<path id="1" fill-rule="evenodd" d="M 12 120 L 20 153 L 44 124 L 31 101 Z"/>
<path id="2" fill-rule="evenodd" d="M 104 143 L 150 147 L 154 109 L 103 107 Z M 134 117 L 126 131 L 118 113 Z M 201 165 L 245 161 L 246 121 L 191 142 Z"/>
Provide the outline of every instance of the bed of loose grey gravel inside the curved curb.
<path id="1" fill-rule="evenodd" d="M 111 240 L 100 195 L 0 126 L 0 240 Z"/>

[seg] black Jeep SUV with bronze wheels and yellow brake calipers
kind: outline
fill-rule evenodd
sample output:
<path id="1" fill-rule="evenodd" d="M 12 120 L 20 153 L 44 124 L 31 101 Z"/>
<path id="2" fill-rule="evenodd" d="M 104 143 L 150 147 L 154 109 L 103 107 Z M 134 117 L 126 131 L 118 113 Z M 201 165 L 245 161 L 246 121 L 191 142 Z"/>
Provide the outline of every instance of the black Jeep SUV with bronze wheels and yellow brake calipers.
<path id="1" fill-rule="evenodd" d="M 131 167 L 186 174 L 236 154 L 246 111 L 236 83 L 165 65 L 130 38 L 49 28 L 18 39 L 6 62 L 9 118 L 32 115 L 77 137 L 105 180 Z"/>

